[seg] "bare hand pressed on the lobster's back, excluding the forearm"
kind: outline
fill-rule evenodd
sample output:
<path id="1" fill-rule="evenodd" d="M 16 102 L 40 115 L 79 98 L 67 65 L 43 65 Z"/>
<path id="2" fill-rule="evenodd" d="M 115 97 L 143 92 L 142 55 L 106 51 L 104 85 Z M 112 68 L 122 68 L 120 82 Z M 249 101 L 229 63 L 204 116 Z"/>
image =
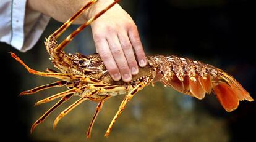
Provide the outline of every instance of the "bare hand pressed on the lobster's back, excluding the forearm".
<path id="1" fill-rule="evenodd" d="M 106 3 L 98 4 L 96 9 L 91 10 L 90 17 L 106 6 Z M 96 51 L 111 77 L 114 81 L 119 81 L 121 77 L 125 82 L 131 81 L 132 75 L 139 71 L 134 51 L 141 67 L 146 65 L 146 58 L 137 26 L 130 15 L 116 4 L 91 26 Z"/>

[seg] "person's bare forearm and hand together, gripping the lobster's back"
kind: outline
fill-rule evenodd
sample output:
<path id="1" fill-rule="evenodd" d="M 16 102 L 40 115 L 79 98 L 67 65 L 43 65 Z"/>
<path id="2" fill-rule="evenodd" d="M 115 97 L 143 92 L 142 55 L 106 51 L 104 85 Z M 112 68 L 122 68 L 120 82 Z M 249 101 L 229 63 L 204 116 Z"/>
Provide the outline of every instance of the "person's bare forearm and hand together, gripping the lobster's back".
<path id="1" fill-rule="evenodd" d="M 72 15 L 90 0 L 27 0 L 27 7 L 42 12 L 60 22 L 66 22 Z M 98 0 L 74 23 L 82 24 L 101 10 L 105 9 L 114 0 Z M 105 14 L 101 15 L 92 24 L 93 39 L 98 52 L 114 81 L 119 79 L 129 82 L 132 75 L 138 73 L 139 68 L 135 54 L 141 67 L 145 66 L 146 58 L 140 42 L 137 26 L 122 9 L 115 4 Z"/>

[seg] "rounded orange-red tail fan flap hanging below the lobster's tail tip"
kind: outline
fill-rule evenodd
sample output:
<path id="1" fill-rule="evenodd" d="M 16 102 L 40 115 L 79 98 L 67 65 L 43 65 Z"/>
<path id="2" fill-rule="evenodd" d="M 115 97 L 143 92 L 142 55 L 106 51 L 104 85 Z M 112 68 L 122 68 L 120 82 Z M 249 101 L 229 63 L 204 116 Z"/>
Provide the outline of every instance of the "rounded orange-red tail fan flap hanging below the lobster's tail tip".
<path id="1" fill-rule="evenodd" d="M 237 93 L 225 82 L 219 81 L 213 84 L 213 92 L 215 92 L 216 98 L 226 111 L 231 112 L 238 107 L 239 98 Z"/>

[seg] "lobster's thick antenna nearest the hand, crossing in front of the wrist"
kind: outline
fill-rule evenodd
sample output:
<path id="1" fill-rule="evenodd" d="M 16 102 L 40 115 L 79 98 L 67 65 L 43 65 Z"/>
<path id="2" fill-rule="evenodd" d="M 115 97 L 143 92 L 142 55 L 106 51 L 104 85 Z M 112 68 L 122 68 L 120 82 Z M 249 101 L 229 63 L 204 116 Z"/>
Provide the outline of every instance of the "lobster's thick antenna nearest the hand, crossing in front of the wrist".
<path id="1" fill-rule="evenodd" d="M 87 27 L 88 25 L 90 25 L 90 23 L 92 23 L 94 20 L 96 20 L 96 18 L 100 17 L 102 14 L 104 14 L 108 9 L 110 9 L 111 7 L 114 6 L 114 4 L 116 4 L 119 0 L 115 0 L 114 2 L 112 2 L 108 7 L 106 7 L 105 9 L 101 10 L 101 12 L 99 12 L 98 14 L 96 14 L 94 17 L 90 18 L 87 22 L 83 23 L 83 25 L 79 26 L 79 28 L 77 28 L 73 33 L 71 33 L 64 41 L 61 42 L 61 44 L 58 45 L 58 47 L 54 48 L 54 52 L 58 53 L 61 52 L 67 44 L 69 44 L 70 41 L 72 41 L 72 39 L 74 39 L 74 37 L 80 33 L 80 31 L 82 31 L 85 27 Z M 91 1 L 92 2 L 92 1 Z M 77 14 L 75 14 L 72 18 L 77 18 Z M 67 22 L 66 22 L 67 23 Z"/>

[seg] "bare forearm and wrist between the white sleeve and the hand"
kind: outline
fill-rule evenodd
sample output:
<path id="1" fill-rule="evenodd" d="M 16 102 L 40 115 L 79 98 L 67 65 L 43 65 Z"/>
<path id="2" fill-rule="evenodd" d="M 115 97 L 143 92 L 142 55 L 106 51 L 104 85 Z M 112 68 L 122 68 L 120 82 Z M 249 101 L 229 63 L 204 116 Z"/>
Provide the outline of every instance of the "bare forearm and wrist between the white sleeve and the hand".
<path id="1" fill-rule="evenodd" d="M 91 0 L 27 0 L 27 8 L 49 15 L 59 22 L 66 22 L 77 10 L 90 1 Z M 84 23 L 88 18 L 104 9 L 113 1 L 114 0 L 98 0 L 96 4 L 93 4 L 92 7 L 86 10 L 74 23 Z"/>

